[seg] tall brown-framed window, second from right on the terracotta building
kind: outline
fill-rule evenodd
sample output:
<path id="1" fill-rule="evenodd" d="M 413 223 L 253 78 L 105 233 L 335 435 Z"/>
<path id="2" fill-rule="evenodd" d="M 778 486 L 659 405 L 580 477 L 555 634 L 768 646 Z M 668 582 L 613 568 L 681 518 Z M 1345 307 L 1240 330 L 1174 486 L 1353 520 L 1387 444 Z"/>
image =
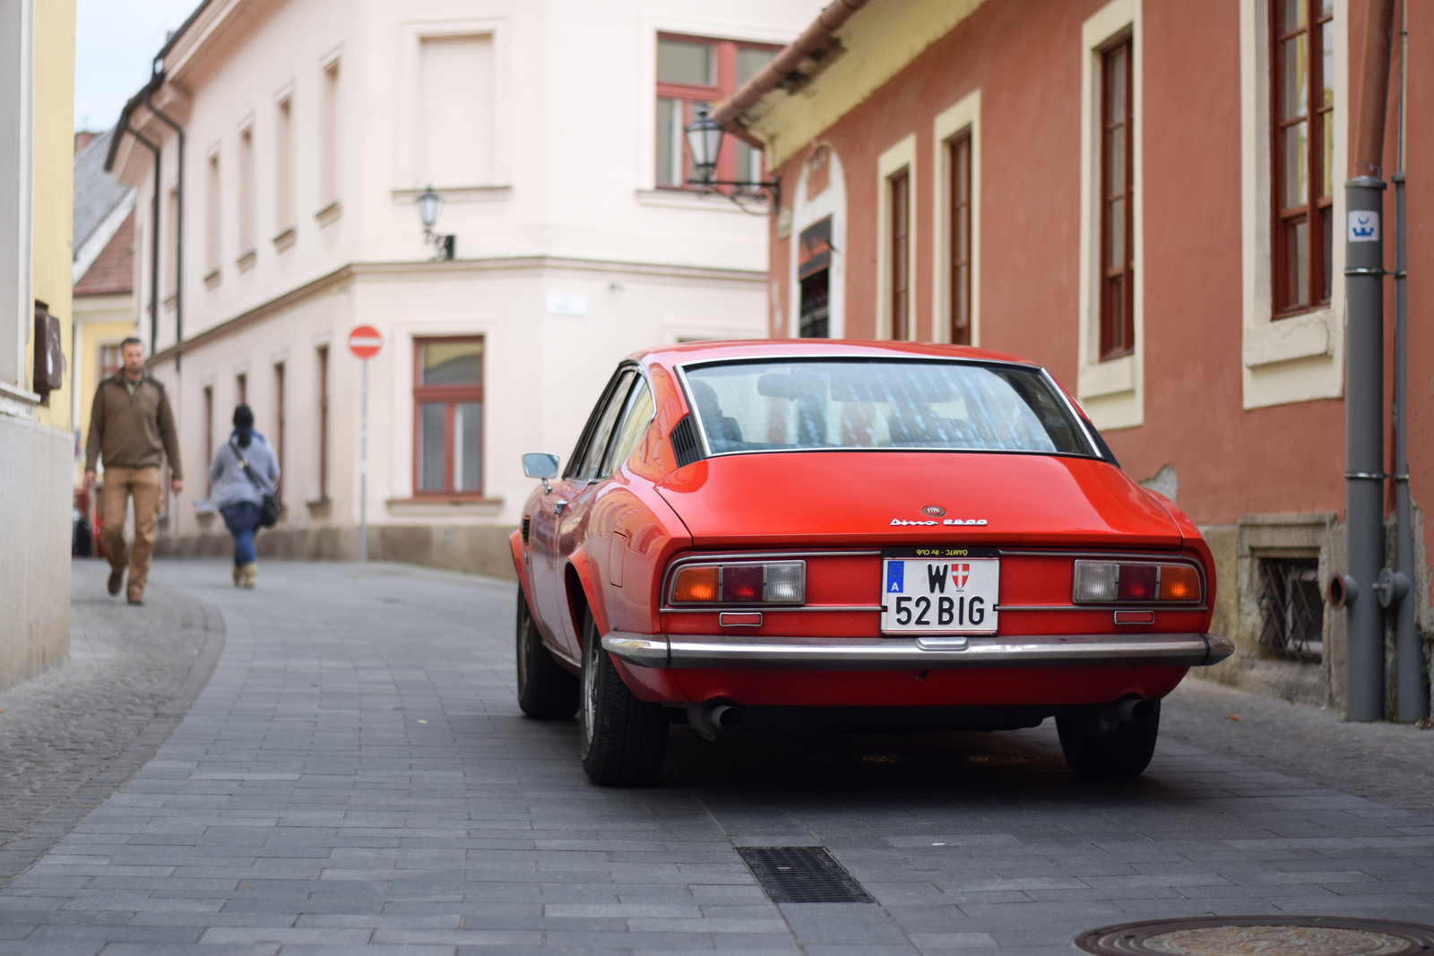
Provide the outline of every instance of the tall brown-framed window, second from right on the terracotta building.
<path id="1" fill-rule="evenodd" d="M 1100 119 L 1100 358 L 1136 347 L 1134 123 L 1131 39 L 1101 50 Z"/>

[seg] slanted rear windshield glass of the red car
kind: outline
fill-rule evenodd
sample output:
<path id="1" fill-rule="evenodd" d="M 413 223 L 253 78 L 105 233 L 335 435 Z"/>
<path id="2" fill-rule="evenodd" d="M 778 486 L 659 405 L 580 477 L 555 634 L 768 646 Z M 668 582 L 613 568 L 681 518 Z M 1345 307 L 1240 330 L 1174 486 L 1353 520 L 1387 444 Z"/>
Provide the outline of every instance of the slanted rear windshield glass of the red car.
<path id="1" fill-rule="evenodd" d="M 941 449 L 1097 457 L 1037 368 L 815 358 L 694 364 L 683 373 L 713 454 Z"/>

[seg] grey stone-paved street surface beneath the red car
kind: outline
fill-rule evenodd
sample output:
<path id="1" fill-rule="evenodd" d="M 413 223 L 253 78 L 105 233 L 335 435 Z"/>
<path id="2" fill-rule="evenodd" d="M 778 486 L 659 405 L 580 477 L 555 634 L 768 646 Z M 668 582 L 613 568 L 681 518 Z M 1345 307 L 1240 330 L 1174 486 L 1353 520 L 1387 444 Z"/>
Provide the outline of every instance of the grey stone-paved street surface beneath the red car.
<path id="1" fill-rule="evenodd" d="M 1077 781 L 1048 721 L 717 744 L 674 727 L 660 785 L 601 790 L 574 722 L 518 711 L 511 583 L 268 562 L 250 592 L 212 560 L 153 580 L 153 646 L 189 621 L 202 669 L 219 638 L 194 622 L 218 615 L 222 655 L 153 758 L 123 785 L 123 761 L 95 770 L 113 795 L 0 892 L 0 953 L 1068 953 L 1077 930 L 1166 916 L 1434 923 L 1434 732 L 1187 681 L 1133 783 Z M 87 629 L 135 619 L 103 582 L 76 563 Z M 151 711 L 130 738 L 168 730 Z M 0 801 L 44 810 L 22 804 Z M 802 844 L 876 904 L 773 904 L 734 851 Z"/>

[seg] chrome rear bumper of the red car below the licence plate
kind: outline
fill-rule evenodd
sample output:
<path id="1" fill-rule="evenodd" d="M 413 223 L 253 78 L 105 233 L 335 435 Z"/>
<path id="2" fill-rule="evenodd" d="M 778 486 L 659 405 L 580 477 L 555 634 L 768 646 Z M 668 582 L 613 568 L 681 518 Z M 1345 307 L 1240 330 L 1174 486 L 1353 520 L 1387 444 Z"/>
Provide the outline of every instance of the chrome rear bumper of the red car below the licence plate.
<path id="1" fill-rule="evenodd" d="M 1216 634 L 929 638 L 753 638 L 614 631 L 612 656 L 644 668 L 935 671 L 1027 666 L 1209 666 L 1235 652 Z"/>

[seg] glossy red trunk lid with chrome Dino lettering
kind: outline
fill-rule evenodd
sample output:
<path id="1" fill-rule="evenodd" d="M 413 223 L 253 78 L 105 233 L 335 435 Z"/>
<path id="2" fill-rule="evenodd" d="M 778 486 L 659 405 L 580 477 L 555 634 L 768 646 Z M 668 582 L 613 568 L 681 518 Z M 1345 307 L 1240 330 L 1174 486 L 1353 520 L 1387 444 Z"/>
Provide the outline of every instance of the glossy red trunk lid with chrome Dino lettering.
<path id="1" fill-rule="evenodd" d="M 1154 494 L 1094 459 L 852 450 L 730 454 L 678 469 L 658 492 L 697 548 L 951 540 L 1182 545 L 1179 526 Z"/>

